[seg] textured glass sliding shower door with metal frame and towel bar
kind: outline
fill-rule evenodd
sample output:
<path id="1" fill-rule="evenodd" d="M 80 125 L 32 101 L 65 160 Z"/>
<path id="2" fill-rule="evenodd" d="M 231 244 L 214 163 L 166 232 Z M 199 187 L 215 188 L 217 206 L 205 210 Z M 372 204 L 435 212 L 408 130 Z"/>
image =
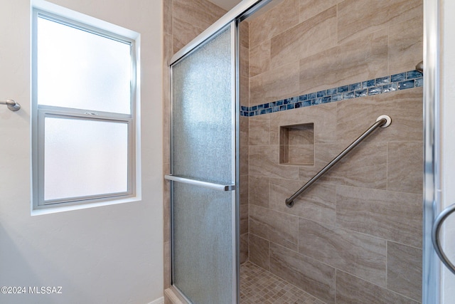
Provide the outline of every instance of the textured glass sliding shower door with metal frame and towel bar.
<path id="1" fill-rule="evenodd" d="M 237 303 L 235 25 L 171 65 L 172 283 Z"/>

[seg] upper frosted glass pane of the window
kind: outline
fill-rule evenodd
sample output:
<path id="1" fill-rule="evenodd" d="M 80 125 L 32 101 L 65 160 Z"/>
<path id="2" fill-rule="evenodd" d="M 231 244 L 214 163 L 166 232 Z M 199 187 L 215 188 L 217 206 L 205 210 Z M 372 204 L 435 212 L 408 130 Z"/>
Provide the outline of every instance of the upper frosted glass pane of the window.
<path id="1" fill-rule="evenodd" d="M 38 17 L 38 104 L 131 112 L 131 45 Z"/>

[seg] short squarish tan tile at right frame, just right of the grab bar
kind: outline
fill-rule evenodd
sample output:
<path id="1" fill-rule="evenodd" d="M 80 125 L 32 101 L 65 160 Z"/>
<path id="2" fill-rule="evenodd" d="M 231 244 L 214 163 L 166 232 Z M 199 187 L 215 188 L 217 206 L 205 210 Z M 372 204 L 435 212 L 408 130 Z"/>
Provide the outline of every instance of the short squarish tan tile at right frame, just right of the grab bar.
<path id="1" fill-rule="evenodd" d="M 423 142 L 387 144 L 387 190 L 422 194 Z"/>

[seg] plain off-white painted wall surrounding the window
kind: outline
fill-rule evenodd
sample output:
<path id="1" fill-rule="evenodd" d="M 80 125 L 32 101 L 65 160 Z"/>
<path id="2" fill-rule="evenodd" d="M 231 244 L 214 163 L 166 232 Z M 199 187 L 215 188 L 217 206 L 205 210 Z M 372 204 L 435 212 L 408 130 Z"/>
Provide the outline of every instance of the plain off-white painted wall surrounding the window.
<path id="1" fill-rule="evenodd" d="M 162 2 L 50 2 L 141 34 L 141 198 L 31 216 L 32 1 L 0 1 L 0 285 L 27 291 L 0 303 L 162 303 Z"/>

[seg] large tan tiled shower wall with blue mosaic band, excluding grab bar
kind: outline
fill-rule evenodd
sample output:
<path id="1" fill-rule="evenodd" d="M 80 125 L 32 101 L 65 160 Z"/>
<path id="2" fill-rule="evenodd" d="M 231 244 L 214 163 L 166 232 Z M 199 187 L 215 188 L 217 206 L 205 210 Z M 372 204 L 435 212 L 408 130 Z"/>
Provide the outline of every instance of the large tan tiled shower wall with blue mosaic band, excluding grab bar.
<path id="1" fill-rule="evenodd" d="M 326 303 L 421 301 L 422 15 L 284 0 L 249 20 L 249 258 Z M 380 115 L 392 125 L 285 206 Z"/>

